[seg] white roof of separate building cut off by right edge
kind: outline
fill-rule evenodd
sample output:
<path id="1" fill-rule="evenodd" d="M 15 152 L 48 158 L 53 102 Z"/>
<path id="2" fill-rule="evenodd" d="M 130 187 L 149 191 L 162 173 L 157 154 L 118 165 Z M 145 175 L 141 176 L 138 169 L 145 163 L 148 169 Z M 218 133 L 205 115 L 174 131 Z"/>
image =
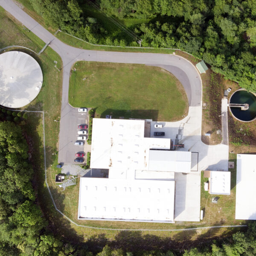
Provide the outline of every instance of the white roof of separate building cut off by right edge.
<path id="1" fill-rule="evenodd" d="M 256 220 L 256 155 L 237 154 L 236 219 Z"/>

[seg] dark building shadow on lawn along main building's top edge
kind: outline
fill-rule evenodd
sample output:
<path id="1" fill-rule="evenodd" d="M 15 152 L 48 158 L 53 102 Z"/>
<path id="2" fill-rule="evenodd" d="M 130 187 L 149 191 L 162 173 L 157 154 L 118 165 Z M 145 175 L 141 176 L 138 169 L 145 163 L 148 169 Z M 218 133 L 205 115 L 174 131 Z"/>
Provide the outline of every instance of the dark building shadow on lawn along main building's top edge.
<path id="1" fill-rule="evenodd" d="M 128 118 L 137 118 L 137 119 L 152 119 L 157 120 L 158 117 L 157 109 L 112 109 L 108 108 L 104 112 L 100 114 L 100 118 L 106 118 L 106 116 L 112 116 L 114 119 L 119 119 L 120 117 L 124 117 L 124 119 Z"/>

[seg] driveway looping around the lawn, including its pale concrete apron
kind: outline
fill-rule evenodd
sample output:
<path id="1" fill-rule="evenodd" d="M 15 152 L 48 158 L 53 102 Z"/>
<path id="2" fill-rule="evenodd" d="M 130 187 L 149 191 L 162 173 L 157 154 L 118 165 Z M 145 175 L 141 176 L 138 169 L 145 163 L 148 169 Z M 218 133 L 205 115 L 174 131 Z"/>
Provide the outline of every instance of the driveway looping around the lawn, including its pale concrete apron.
<path id="1" fill-rule="evenodd" d="M 65 152 L 67 145 L 70 143 L 73 144 L 73 141 L 69 140 L 69 113 L 73 110 L 68 104 L 70 69 L 76 61 L 101 61 L 147 64 L 163 67 L 173 73 L 183 84 L 189 100 L 189 115 L 179 123 L 175 122 L 177 125 L 183 125 L 184 127 L 181 141 L 186 142 L 188 150 L 203 152 L 201 156 L 199 154 L 198 170 L 209 167 L 211 169 L 227 170 L 228 146 L 223 144 L 207 146 L 201 142 L 201 78 L 195 67 L 189 61 L 180 56 L 169 54 L 93 51 L 71 47 L 58 40 L 47 29 L 23 12 L 12 0 L 0 0 L 0 5 L 45 43 L 51 42 L 50 47 L 60 55 L 63 61 L 59 162 L 63 161 L 65 156 L 69 154 L 69 152 Z M 166 127 L 168 125 L 172 127 L 171 123 L 166 123 Z"/>

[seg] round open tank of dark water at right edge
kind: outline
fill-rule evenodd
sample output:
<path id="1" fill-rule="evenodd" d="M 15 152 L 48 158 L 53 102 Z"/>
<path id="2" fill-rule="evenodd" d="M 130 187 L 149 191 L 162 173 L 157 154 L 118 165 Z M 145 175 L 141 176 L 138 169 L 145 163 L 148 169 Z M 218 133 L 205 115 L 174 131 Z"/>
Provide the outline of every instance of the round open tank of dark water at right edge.
<path id="1" fill-rule="evenodd" d="M 250 122 L 256 119 L 256 96 L 246 90 L 237 90 L 230 98 L 230 104 L 249 104 L 247 110 L 230 107 L 230 111 L 237 119 Z"/>

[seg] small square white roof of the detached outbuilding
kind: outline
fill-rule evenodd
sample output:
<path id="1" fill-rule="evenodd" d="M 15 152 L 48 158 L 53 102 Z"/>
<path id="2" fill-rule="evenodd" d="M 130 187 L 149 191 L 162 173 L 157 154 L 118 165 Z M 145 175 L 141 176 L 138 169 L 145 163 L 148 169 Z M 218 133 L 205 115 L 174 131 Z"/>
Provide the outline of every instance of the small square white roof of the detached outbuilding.
<path id="1" fill-rule="evenodd" d="M 210 194 L 230 195 L 230 172 L 211 171 Z"/>

